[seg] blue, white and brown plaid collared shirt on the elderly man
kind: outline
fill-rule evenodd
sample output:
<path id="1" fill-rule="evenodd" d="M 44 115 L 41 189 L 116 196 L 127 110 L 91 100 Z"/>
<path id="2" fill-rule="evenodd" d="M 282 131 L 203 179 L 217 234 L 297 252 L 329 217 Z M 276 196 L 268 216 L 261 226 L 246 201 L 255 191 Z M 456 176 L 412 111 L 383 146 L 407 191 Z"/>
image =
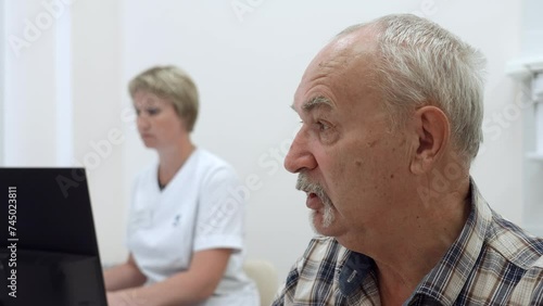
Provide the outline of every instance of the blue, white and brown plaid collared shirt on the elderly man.
<path id="1" fill-rule="evenodd" d="M 543 305 L 543 239 L 493 212 L 475 183 L 471 194 L 460 235 L 404 305 Z M 314 238 L 273 305 L 380 305 L 375 263 Z"/>

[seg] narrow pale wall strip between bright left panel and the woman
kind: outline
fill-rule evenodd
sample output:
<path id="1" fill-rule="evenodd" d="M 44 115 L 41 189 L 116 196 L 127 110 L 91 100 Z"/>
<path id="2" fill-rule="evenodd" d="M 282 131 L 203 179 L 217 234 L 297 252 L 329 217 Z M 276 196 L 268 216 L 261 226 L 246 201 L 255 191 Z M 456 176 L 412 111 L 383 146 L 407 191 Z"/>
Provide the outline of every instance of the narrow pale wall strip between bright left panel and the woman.
<path id="1" fill-rule="evenodd" d="M 118 1 L 78 0 L 72 5 L 74 158 L 89 174 L 105 264 L 126 259 L 121 16 Z"/>

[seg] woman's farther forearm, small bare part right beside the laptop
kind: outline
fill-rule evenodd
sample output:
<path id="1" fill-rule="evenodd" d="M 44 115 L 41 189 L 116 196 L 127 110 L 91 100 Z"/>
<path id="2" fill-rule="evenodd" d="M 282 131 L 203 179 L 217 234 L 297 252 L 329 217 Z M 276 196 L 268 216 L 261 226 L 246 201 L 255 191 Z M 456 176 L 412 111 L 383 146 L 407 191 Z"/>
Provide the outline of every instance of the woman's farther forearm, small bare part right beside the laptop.
<path id="1" fill-rule="evenodd" d="M 103 273 L 105 291 L 117 291 L 142 285 L 147 278 L 141 273 L 132 255 L 125 264 L 106 269 Z"/>

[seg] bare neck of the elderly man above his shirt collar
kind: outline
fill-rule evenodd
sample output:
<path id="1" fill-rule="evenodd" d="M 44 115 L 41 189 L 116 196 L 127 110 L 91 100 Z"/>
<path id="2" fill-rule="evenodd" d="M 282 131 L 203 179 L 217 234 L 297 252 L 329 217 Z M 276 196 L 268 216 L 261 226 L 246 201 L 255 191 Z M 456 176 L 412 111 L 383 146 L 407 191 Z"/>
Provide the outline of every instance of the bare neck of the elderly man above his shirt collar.
<path id="1" fill-rule="evenodd" d="M 389 231 L 386 244 L 372 248 L 368 255 L 377 266 L 381 305 L 402 305 L 413 294 L 460 234 L 471 209 L 469 202 L 467 182 L 420 209 L 421 214 L 406 217 L 400 228 L 403 232 Z"/>

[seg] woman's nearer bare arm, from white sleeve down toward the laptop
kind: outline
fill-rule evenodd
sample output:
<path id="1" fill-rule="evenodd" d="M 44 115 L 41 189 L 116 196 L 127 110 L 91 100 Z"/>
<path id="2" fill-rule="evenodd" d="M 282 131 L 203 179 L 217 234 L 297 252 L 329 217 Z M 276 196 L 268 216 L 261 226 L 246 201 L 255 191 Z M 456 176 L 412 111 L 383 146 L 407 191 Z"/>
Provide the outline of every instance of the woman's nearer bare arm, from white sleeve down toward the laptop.
<path id="1" fill-rule="evenodd" d="M 195 252 L 188 270 L 152 285 L 110 293 L 109 305 L 167 306 L 201 302 L 215 292 L 225 273 L 231 252 L 231 248 Z"/>

